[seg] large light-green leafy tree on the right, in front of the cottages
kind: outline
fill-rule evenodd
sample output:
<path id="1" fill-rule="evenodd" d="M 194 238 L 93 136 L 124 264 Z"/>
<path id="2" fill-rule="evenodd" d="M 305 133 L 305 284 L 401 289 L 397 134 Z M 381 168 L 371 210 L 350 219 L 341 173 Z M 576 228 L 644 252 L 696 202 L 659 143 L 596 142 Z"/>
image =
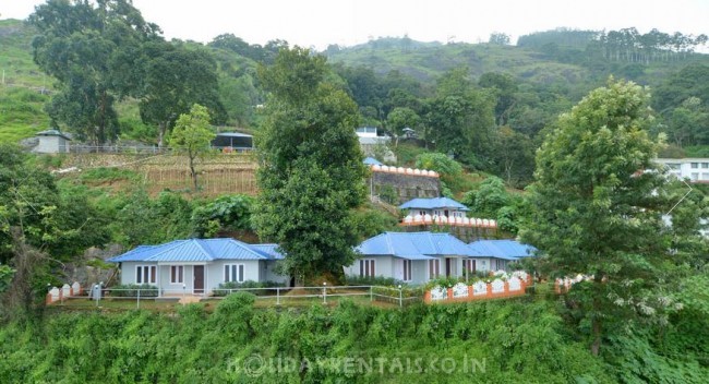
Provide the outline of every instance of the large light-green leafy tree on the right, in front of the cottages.
<path id="1" fill-rule="evenodd" d="M 678 238 L 662 221 L 671 202 L 653 171 L 648 99 L 641 87 L 612 80 L 591 92 L 558 118 L 529 188 L 522 240 L 545 255 L 552 276 L 591 277 L 567 301 L 593 355 L 611 329 L 654 319 L 670 302 L 654 288 L 671 276 L 670 240 Z"/>

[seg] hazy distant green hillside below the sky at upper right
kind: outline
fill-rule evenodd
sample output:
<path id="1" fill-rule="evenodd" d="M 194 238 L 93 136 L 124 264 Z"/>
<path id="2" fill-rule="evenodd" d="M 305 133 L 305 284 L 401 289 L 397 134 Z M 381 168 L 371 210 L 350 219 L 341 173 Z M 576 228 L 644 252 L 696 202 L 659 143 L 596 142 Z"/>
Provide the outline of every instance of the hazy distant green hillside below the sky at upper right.
<path id="1" fill-rule="evenodd" d="M 485 72 L 506 72 L 532 83 L 564 87 L 578 85 L 582 89 L 575 89 L 574 94 L 579 96 L 603 83 L 611 74 L 654 85 L 690 63 L 709 63 L 709 56 L 699 53 L 641 64 L 600 60 L 592 57 L 592 52 L 563 46 L 534 49 L 493 44 L 411 44 L 406 38 L 387 38 L 385 41 L 387 44 L 374 40 L 350 48 L 331 49 L 325 53 L 334 63 L 370 67 L 380 74 L 397 70 L 422 82 L 433 81 L 448 70 L 467 67 L 476 77 Z"/>

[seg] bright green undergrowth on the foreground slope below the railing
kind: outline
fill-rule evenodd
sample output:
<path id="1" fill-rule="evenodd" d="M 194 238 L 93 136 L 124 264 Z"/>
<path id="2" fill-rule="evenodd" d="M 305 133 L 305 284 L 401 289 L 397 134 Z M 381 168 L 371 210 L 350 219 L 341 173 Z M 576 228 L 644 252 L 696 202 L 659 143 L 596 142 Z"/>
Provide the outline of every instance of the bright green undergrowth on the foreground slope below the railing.
<path id="1" fill-rule="evenodd" d="M 392 292 L 389 292 L 390 295 Z M 401 310 L 343 301 L 328 309 L 254 309 L 254 296 L 235 293 L 207 314 L 202 305 L 177 314 L 58 313 L 39 334 L 0 328 L 0 380 L 7 383 L 137 382 L 597 382 L 617 380 L 567 335 L 553 307 L 483 302 L 410 305 Z M 534 321 L 530 321 L 533 319 Z M 274 360 L 247 371 L 255 356 Z M 354 359 L 347 370 L 337 362 Z M 416 359 L 426 370 L 416 369 Z M 277 359 L 292 359 L 291 370 Z M 325 359 L 333 360 L 327 364 Z M 372 369 L 358 369 L 359 359 Z M 385 359 L 378 370 L 374 359 Z M 404 364 L 396 369 L 396 359 Z M 441 371 L 441 360 L 456 369 Z M 482 364 L 474 373 L 464 361 Z M 311 362 L 301 370 L 301 362 Z M 406 369 L 411 361 L 411 370 Z M 320 363 L 319 365 L 314 365 Z M 432 365 L 429 365 L 429 364 Z M 273 369 L 272 369 L 273 367 Z M 430 367 L 436 367 L 433 371 Z M 448 365 L 443 365 L 448 367 Z M 261 368 L 253 365 L 252 368 Z M 392 369 L 389 369 L 392 368 Z M 255 374 L 254 374 L 255 373 Z"/>

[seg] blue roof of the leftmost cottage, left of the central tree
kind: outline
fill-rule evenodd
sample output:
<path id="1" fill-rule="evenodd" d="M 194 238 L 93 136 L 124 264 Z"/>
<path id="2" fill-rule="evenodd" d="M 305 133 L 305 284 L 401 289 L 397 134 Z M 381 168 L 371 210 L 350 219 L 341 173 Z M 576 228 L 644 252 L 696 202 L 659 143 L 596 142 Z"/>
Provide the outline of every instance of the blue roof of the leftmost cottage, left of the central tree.
<path id="1" fill-rule="evenodd" d="M 175 240 L 159 245 L 140 245 L 109 262 L 208 262 L 215 260 L 280 260 L 275 244 L 247 244 L 233 239 Z"/>

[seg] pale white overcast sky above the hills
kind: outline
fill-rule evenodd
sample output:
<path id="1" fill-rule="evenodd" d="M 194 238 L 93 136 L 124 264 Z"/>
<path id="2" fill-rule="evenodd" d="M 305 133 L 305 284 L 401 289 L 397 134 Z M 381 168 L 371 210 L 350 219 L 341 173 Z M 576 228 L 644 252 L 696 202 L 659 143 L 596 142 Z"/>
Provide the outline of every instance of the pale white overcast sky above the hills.
<path id="1" fill-rule="evenodd" d="M 0 19 L 25 19 L 44 0 L 0 0 Z M 208 43 L 232 33 L 251 44 L 285 39 L 324 49 L 380 36 L 486 41 L 555 27 L 709 33 L 709 0 L 133 0 L 167 38 Z"/>

